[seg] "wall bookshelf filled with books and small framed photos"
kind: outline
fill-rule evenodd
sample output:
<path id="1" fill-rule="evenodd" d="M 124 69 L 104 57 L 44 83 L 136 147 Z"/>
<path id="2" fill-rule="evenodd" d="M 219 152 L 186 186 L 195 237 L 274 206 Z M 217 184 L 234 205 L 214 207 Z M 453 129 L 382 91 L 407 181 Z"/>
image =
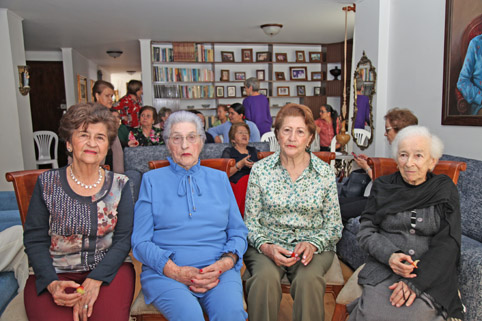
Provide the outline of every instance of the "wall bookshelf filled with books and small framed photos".
<path id="1" fill-rule="evenodd" d="M 218 105 L 242 102 L 249 77 L 260 79 L 273 116 L 289 102 L 308 105 L 315 117 L 327 101 L 341 105 L 343 43 L 151 41 L 150 49 L 152 83 L 144 87 L 151 86 L 157 109 L 198 109 L 208 117 L 215 115 Z M 335 66 L 342 70 L 338 80 L 329 73 Z"/>

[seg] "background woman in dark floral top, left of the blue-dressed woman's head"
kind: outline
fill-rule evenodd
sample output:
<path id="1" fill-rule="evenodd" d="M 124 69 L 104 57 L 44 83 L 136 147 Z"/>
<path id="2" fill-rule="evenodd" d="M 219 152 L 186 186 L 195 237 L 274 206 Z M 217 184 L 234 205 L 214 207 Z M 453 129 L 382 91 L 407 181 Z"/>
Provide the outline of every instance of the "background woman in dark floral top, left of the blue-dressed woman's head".
<path id="1" fill-rule="evenodd" d="M 128 146 L 164 145 L 161 129 L 153 126 L 157 121 L 156 109 L 152 106 L 144 106 L 139 114 L 141 125 L 129 133 Z"/>

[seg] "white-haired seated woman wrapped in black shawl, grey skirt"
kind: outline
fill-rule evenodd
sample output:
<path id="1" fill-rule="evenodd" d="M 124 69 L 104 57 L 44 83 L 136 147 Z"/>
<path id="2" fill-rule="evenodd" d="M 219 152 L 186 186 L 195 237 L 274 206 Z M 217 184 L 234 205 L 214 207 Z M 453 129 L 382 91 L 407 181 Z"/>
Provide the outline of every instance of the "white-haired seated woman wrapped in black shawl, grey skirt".
<path id="1" fill-rule="evenodd" d="M 357 238 L 369 257 L 350 321 L 463 319 L 458 191 L 431 173 L 442 150 L 421 126 L 401 130 L 392 144 L 399 172 L 375 180 L 360 219 Z"/>

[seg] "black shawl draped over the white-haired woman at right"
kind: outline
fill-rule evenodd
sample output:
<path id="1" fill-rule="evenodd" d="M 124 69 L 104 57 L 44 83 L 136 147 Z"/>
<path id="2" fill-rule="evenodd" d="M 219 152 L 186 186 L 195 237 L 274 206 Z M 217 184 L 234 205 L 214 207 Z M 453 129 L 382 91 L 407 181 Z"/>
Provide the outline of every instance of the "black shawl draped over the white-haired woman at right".
<path id="1" fill-rule="evenodd" d="M 436 206 L 441 213 L 440 230 L 420 258 L 416 278 L 405 279 L 417 294 L 425 292 L 449 317 L 462 318 L 458 296 L 457 266 L 460 260 L 460 204 L 457 187 L 446 175 L 427 174 L 420 185 L 407 184 L 400 172 L 374 181 L 361 220 L 379 225 L 386 215 Z"/>

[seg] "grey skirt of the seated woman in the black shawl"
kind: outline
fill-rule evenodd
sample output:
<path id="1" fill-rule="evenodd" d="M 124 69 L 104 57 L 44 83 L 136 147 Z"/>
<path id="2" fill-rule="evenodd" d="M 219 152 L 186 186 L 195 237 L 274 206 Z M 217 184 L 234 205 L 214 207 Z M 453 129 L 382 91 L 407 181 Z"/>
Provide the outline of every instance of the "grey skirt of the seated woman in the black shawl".
<path id="1" fill-rule="evenodd" d="M 445 320 L 426 295 L 417 297 L 409 307 L 405 305 L 399 308 L 393 306 L 390 303 L 392 290 L 388 287 L 398 280 L 397 276 L 393 276 L 375 286 L 364 285 L 361 297 L 347 306 L 350 313 L 348 321 Z"/>

